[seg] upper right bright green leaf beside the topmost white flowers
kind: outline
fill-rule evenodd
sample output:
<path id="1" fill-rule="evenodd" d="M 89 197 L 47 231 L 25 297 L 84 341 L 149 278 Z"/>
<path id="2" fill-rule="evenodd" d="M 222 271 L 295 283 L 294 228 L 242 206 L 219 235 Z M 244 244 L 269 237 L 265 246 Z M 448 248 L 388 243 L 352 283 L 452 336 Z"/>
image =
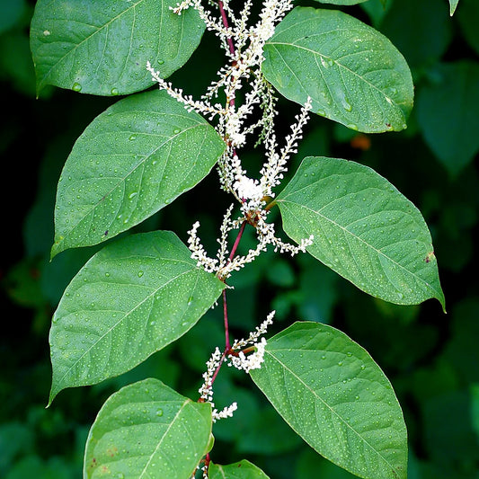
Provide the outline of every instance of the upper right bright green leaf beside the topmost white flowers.
<path id="1" fill-rule="evenodd" d="M 412 77 L 384 35 L 334 10 L 297 7 L 264 46 L 262 72 L 289 100 L 374 133 L 406 128 Z"/>

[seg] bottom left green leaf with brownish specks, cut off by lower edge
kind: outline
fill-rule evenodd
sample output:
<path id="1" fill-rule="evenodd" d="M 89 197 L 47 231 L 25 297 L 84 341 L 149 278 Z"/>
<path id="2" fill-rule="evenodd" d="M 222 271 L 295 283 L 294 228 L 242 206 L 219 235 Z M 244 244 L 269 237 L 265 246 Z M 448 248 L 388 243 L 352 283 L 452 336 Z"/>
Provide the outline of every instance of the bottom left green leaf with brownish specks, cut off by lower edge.
<path id="1" fill-rule="evenodd" d="M 157 379 L 111 395 L 93 422 L 84 479 L 191 479 L 207 450 L 211 406 L 193 403 Z"/>

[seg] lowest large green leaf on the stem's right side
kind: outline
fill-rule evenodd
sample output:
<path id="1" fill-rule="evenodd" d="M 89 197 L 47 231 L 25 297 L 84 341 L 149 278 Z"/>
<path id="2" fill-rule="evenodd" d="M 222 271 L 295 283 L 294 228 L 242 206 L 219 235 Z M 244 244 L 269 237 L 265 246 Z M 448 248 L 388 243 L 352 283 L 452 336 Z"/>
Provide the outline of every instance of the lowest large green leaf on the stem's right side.
<path id="1" fill-rule="evenodd" d="M 392 386 L 368 352 L 319 323 L 295 323 L 266 345 L 253 381 L 299 436 L 367 479 L 405 479 L 407 433 Z"/>

